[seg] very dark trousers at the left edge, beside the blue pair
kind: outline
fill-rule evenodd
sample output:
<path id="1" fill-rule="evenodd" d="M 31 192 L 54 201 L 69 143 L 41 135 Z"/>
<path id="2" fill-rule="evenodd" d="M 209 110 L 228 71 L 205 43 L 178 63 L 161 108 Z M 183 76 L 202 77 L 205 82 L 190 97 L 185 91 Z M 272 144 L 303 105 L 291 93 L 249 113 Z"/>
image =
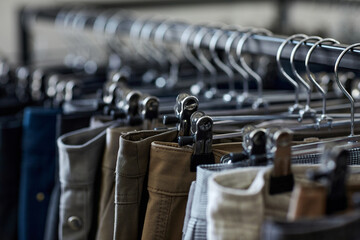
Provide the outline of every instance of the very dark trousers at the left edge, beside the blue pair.
<path id="1" fill-rule="evenodd" d="M 0 239 L 17 239 L 22 120 L 0 118 Z"/>

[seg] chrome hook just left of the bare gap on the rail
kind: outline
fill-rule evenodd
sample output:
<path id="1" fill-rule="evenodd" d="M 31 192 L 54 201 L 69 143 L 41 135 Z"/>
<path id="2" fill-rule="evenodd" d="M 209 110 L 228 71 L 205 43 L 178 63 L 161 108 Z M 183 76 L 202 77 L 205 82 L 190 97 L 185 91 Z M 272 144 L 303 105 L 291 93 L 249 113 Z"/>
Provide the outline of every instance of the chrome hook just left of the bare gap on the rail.
<path id="1" fill-rule="evenodd" d="M 272 33 L 266 29 L 253 29 L 247 33 L 244 33 L 241 39 L 238 42 L 238 45 L 236 47 L 236 54 L 240 59 L 241 66 L 249 73 L 251 77 L 253 77 L 257 82 L 257 91 L 258 96 L 256 101 L 253 103 L 253 108 L 258 109 L 259 107 L 267 107 L 267 103 L 263 99 L 263 83 L 262 79 L 259 74 L 257 74 L 253 69 L 249 67 L 249 65 L 246 63 L 244 56 L 242 55 L 243 48 L 245 45 L 245 42 L 252 37 L 253 35 L 272 35 Z"/>

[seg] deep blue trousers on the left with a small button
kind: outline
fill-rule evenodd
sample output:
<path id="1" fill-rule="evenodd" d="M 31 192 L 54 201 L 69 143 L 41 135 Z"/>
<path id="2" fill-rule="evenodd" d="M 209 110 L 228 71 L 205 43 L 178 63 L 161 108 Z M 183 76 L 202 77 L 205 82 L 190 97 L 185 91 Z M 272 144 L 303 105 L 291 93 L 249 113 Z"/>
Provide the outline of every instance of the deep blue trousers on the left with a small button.
<path id="1" fill-rule="evenodd" d="M 26 108 L 19 196 L 19 239 L 43 239 L 54 186 L 58 110 Z"/>

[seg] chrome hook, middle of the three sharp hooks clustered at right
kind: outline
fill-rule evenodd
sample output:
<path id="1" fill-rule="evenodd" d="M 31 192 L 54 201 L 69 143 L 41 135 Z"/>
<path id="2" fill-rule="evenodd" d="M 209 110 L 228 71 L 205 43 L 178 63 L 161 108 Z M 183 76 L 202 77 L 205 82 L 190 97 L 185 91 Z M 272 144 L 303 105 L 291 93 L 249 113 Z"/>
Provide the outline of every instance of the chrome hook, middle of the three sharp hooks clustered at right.
<path id="1" fill-rule="evenodd" d="M 305 108 L 300 110 L 300 112 L 299 112 L 299 115 L 300 115 L 299 121 L 302 121 L 304 118 L 315 118 L 315 116 L 316 116 L 316 111 L 314 109 L 311 109 L 311 107 L 310 107 L 311 86 L 309 83 L 306 82 L 305 79 L 303 79 L 300 76 L 300 74 L 297 72 L 297 70 L 295 68 L 295 64 L 294 64 L 295 55 L 296 55 L 296 52 L 298 51 L 298 49 L 300 48 L 300 46 L 302 44 L 306 45 L 307 41 L 310 41 L 310 40 L 319 41 L 319 40 L 322 40 L 322 38 L 318 37 L 318 36 L 311 36 L 311 37 L 307 37 L 305 39 L 300 40 L 293 48 L 293 50 L 291 51 L 291 55 L 290 55 L 290 65 L 291 65 L 292 73 L 300 81 L 301 85 L 303 85 L 305 87 L 306 92 L 307 92 L 306 105 L 305 105 Z"/>

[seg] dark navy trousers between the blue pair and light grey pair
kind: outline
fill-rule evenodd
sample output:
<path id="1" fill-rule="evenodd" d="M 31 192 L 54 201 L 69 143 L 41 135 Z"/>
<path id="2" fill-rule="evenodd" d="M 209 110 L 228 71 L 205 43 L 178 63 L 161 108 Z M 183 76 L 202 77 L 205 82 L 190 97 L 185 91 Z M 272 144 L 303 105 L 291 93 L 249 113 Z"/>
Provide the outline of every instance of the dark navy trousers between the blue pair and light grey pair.
<path id="1" fill-rule="evenodd" d="M 57 120 L 57 136 L 89 126 L 92 113 L 62 114 Z M 59 159 L 56 158 L 55 186 L 51 193 L 44 240 L 57 240 L 59 228 L 60 181 Z"/>

